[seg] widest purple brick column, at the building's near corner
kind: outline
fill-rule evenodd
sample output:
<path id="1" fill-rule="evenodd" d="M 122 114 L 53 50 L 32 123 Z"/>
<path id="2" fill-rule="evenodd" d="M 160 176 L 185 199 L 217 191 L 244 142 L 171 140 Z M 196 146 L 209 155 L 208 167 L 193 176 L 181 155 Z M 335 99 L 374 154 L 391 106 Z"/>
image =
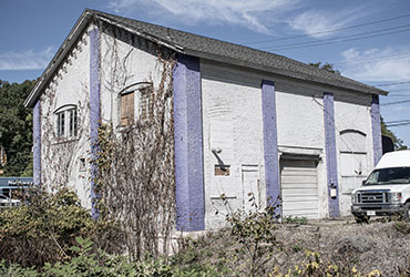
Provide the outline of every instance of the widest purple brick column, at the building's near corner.
<path id="1" fill-rule="evenodd" d="M 199 59 L 178 54 L 174 71 L 176 229 L 205 229 Z"/>

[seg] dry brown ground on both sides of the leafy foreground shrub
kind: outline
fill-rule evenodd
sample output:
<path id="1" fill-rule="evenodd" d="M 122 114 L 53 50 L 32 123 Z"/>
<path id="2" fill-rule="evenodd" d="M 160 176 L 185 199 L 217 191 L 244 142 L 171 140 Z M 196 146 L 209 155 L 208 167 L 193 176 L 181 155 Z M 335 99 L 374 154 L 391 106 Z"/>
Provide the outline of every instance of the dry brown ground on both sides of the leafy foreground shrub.
<path id="1" fill-rule="evenodd" d="M 410 223 L 357 224 L 349 218 L 306 225 L 278 224 L 276 235 L 284 247 L 267 254 L 271 256 L 264 265 L 263 275 L 271 273 L 275 266 L 285 274 L 296 265 L 306 264 L 306 250 L 311 250 L 319 253 L 325 265 L 355 267 L 362 274 L 379 269 L 381 276 L 410 276 L 406 274 L 410 268 Z M 191 242 L 182 263 L 224 265 L 245 276 L 248 259 L 245 255 L 237 258 L 238 247 L 240 244 L 229 229 L 208 233 Z"/>

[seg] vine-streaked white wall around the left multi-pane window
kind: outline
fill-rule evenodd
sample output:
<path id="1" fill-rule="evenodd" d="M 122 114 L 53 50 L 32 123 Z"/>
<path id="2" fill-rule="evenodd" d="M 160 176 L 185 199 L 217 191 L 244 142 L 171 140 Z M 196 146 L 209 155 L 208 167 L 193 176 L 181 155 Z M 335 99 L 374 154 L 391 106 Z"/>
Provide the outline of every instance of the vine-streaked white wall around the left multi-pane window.
<path id="1" fill-rule="evenodd" d="M 72 92 L 81 96 L 78 98 L 79 100 L 76 102 L 70 103 L 75 105 L 76 109 L 76 135 L 68 136 L 68 124 L 62 123 L 65 126 L 65 134 L 58 136 L 55 114 L 57 109 L 62 105 L 62 103 L 58 102 L 57 96 L 59 83 L 64 80 L 68 71 L 73 70 L 71 60 L 79 60 L 78 53 L 82 52 L 82 48 L 85 45 L 84 40 L 79 40 L 76 47 L 57 71 L 54 78 L 48 84 L 45 93 L 41 96 L 41 183 L 51 189 L 60 189 L 62 186 L 66 186 L 72 182 L 80 183 L 79 179 L 82 179 L 84 183 L 86 181 L 86 172 L 75 175 L 75 167 L 79 166 L 80 157 L 85 157 L 86 155 L 84 145 L 89 138 L 86 119 L 90 117 L 90 109 L 88 109 L 90 96 L 86 76 L 83 75 L 78 80 L 80 82 L 79 88 L 81 89 Z M 69 122 L 69 120 L 66 114 L 65 122 Z"/>

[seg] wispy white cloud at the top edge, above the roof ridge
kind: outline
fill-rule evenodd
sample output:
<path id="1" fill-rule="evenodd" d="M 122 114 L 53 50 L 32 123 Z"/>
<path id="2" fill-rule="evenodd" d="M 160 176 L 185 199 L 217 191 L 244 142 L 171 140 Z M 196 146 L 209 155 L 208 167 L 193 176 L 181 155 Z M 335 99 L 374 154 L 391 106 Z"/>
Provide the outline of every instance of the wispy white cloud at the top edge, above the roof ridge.
<path id="1" fill-rule="evenodd" d="M 291 10 L 297 2 L 299 0 L 112 0 L 109 7 L 124 13 L 142 10 L 187 24 L 239 24 L 270 33 L 269 22 L 275 14 Z"/>

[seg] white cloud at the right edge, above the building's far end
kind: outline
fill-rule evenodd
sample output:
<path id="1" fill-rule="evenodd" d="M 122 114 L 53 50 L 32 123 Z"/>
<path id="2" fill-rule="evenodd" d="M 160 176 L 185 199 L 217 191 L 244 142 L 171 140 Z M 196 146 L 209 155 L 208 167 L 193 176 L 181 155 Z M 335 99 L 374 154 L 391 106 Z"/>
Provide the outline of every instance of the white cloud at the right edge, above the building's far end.
<path id="1" fill-rule="evenodd" d="M 410 45 L 371 48 L 362 51 L 351 48 L 341 54 L 344 57 L 341 72 L 352 79 L 366 82 L 409 80 Z"/>

